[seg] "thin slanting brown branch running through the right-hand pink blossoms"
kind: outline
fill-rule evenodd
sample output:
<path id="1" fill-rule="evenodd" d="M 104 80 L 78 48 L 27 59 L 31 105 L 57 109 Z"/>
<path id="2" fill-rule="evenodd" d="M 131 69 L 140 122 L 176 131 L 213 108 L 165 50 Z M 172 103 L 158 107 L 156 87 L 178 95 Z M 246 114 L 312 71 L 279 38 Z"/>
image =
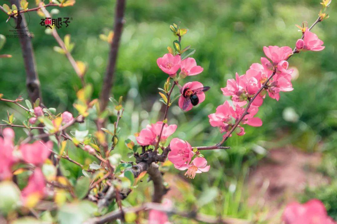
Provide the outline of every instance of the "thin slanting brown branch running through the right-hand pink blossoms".
<path id="1" fill-rule="evenodd" d="M 311 30 L 318 22 L 320 22 L 321 19 L 320 17 L 318 16 L 318 18 L 316 19 L 316 21 L 310 26 L 309 30 Z M 302 34 L 302 38 L 304 38 L 304 34 Z M 296 47 L 294 48 L 293 50 L 293 53 L 290 54 L 286 60 L 288 60 L 292 55 L 294 55 L 295 53 L 298 53 Z M 227 139 L 228 137 L 232 134 L 232 132 L 235 130 L 235 128 L 240 124 L 240 122 L 242 121 L 242 119 L 248 114 L 247 111 L 251 105 L 251 103 L 254 101 L 254 99 L 256 98 L 256 96 L 267 86 L 267 83 L 269 82 L 269 80 L 271 78 L 273 78 L 273 76 L 275 75 L 276 73 L 276 69 L 274 68 L 274 71 L 273 71 L 273 74 L 266 80 L 266 82 L 261 86 L 261 88 L 254 94 L 254 96 L 248 101 L 248 104 L 247 104 L 247 107 L 244 111 L 244 113 L 241 115 L 241 117 L 239 118 L 239 120 L 237 120 L 235 122 L 235 125 L 232 127 L 232 129 L 226 133 L 226 135 L 223 137 L 223 139 L 218 143 L 216 144 L 215 146 L 221 146 Z"/>

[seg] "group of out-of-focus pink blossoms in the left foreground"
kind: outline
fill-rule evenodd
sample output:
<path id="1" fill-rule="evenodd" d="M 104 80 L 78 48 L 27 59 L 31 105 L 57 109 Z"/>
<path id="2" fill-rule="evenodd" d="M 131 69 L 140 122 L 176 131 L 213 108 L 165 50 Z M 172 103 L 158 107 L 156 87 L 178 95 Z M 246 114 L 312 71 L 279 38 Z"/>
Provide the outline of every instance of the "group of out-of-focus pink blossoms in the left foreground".
<path id="1" fill-rule="evenodd" d="M 5 128 L 0 137 L 0 180 L 12 177 L 12 167 L 19 162 L 34 166 L 34 171 L 28 179 L 27 186 L 21 192 L 23 205 L 33 207 L 45 194 L 45 180 L 41 170 L 53 149 L 53 142 L 35 141 L 32 144 L 14 146 L 14 131 Z"/>

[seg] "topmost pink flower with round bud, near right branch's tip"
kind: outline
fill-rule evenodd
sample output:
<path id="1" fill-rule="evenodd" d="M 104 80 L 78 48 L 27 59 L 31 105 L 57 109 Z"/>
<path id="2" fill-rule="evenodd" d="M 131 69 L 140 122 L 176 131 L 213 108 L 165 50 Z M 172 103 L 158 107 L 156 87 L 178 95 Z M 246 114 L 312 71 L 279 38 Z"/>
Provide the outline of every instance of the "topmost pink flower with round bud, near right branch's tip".
<path id="1" fill-rule="evenodd" d="M 321 46 L 323 41 L 319 40 L 317 35 L 305 29 L 303 40 L 298 39 L 296 42 L 296 49 L 298 51 L 321 51 L 325 46 Z"/>

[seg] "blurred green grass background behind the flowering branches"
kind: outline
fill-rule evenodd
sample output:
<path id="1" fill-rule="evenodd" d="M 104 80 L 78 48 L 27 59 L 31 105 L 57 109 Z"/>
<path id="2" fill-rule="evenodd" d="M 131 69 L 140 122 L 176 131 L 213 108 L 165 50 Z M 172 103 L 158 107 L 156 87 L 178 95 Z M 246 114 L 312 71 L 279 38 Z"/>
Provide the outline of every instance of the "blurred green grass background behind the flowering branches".
<path id="1" fill-rule="evenodd" d="M 32 7 L 34 1 L 28 2 Z M 73 18 L 69 27 L 62 27 L 58 32 L 62 38 L 71 35 L 71 41 L 75 43 L 73 57 L 87 63 L 85 80 L 93 84 L 93 97 L 99 95 L 109 52 L 108 43 L 102 41 L 99 34 L 108 35 L 112 29 L 114 3 L 108 0 L 77 1 L 74 7 L 61 8 L 55 15 Z M 253 219 L 256 211 L 247 207 L 243 182 L 248 168 L 265 156 L 266 149 L 275 147 L 270 140 L 278 138 L 281 139 L 278 141 L 280 145 L 294 144 L 309 152 L 319 150 L 321 142 L 332 142 L 324 149 L 327 153 L 335 150 L 337 142 L 331 139 L 336 139 L 337 128 L 336 7 L 332 2 L 328 9 L 330 18 L 313 29 L 324 40 L 326 49 L 300 53 L 290 59 L 290 66 L 295 66 L 299 73 L 293 82 L 294 91 L 282 93 L 279 102 L 267 97 L 258 113 L 263 126 L 247 126 L 246 135 L 231 137 L 226 142 L 232 146 L 231 150 L 204 152 L 211 170 L 192 180 L 190 190 L 181 190 L 186 199 L 179 207 L 191 209 L 198 200 L 205 200 L 203 194 L 206 194 L 212 200 L 202 205 L 202 212 Z M 318 0 L 127 1 L 126 24 L 112 91 L 115 98 L 123 95 L 126 99 L 124 117 L 120 122 L 120 144 L 116 150 L 127 158 L 129 151 L 123 144 L 124 140 L 128 137 L 134 139 L 133 133 L 161 118 L 162 104 L 158 101 L 157 87 L 162 88 L 167 75 L 157 67 L 156 59 L 167 53 L 166 47 L 172 46 L 175 40 L 169 29 L 171 23 L 181 21 L 181 26 L 189 29 L 182 39 L 182 47 L 191 45 L 195 48 L 193 57 L 204 68 L 202 74 L 187 77 L 185 82 L 197 80 L 211 86 L 206 100 L 188 113 L 183 113 L 177 105 L 171 107 L 169 123 L 178 124 L 172 137 L 185 139 L 193 146 L 212 145 L 219 142 L 221 134 L 209 125 L 207 115 L 214 113 L 215 108 L 228 99 L 219 88 L 224 87 L 235 72 L 244 74 L 251 63 L 259 62 L 259 58 L 264 56 L 263 46 L 293 47 L 301 36 L 295 24 L 308 21 L 310 26 L 317 18 L 319 8 Z M 39 25 L 40 17 L 34 12 L 29 15 L 43 102 L 58 111 L 75 113 L 72 103 L 76 99 L 76 90 L 81 88 L 80 79 L 64 55 L 53 50 L 57 43 Z M 4 13 L 0 14 L 0 33 L 3 35 L 10 34 L 8 30 L 11 29 L 5 23 L 6 19 Z M 0 92 L 10 99 L 19 95 L 27 97 L 18 39 L 7 38 L 1 53 L 13 57 L 0 59 Z M 6 110 L 17 110 L 10 107 L 12 105 L 1 104 L 1 118 L 6 117 Z M 18 120 L 19 111 L 16 111 Z M 114 120 L 115 117 L 110 118 L 111 123 Z M 79 124 L 78 129 L 93 131 L 95 124 L 88 121 Z M 18 130 L 18 133 L 18 137 L 24 136 L 23 131 Z M 85 152 L 74 148 L 69 153 L 71 158 L 82 163 L 88 157 Z M 327 174 L 335 174 L 336 154 L 326 160 L 335 165 Z M 67 161 L 62 163 L 63 172 L 74 183 L 82 175 L 81 170 Z M 178 173 L 173 169 L 172 172 Z M 134 205 L 148 200 L 146 193 L 136 193 L 146 191 L 148 186 L 143 182 L 123 203 Z M 319 199 L 329 201 L 328 193 L 318 192 L 317 195 Z M 317 195 L 312 192 L 308 197 Z M 336 215 L 335 210 L 330 211 Z M 185 222 L 179 220 L 175 223 Z"/>

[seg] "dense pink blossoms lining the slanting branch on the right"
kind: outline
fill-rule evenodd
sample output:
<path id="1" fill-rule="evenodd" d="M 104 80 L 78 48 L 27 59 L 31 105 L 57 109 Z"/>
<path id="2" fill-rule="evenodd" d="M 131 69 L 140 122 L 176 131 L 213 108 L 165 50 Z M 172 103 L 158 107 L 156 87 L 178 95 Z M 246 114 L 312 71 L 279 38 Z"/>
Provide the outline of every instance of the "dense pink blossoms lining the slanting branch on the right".
<path id="1" fill-rule="evenodd" d="M 323 50 L 322 44 L 323 41 L 306 28 L 303 39 L 297 41 L 294 51 L 288 46 L 264 47 L 263 51 L 269 59 L 262 57 L 261 64 L 253 63 L 244 75 L 239 76 L 236 73 L 235 79 L 227 80 L 227 86 L 221 88 L 225 96 L 231 96 L 232 103 L 226 101 L 218 106 L 216 112 L 208 116 L 210 124 L 213 127 L 219 127 L 220 132 L 225 135 L 233 127 L 236 127 L 234 132 L 237 135 L 244 135 L 244 128 L 241 126 L 243 124 L 261 126 L 261 119 L 254 116 L 266 95 L 278 101 L 280 92 L 293 90 L 291 79 L 294 70 L 288 68 L 288 58 L 293 53 L 304 50 Z M 244 107 L 245 105 L 247 106 Z"/>

